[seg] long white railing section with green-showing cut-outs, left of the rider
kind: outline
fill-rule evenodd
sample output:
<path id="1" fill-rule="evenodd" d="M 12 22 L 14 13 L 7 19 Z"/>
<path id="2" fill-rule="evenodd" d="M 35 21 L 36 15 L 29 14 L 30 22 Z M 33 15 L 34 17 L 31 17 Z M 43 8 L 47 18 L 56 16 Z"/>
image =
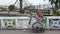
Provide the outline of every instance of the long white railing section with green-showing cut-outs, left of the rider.
<path id="1" fill-rule="evenodd" d="M 0 17 L 0 29 L 27 28 L 29 17 Z"/>

